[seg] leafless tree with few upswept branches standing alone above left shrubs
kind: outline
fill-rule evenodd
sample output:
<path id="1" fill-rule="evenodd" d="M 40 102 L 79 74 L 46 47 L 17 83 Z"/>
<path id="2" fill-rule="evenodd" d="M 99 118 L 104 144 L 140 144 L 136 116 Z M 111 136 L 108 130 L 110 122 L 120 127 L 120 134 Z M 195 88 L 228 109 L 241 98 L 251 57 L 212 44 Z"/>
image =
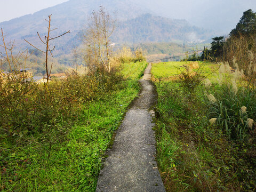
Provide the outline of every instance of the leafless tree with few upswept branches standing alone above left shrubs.
<path id="1" fill-rule="evenodd" d="M 59 38 L 59 37 L 65 35 L 67 33 L 70 33 L 70 30 L 69 30 L 66 33 L 63 33 L 63 34 L 61 34 L 61 35 L 59 35 L 57 37 L 51 37 L 50 36 L 51 31 L 53 31 L 55 29 L 58 29 L 58 28 L 55 28 L 55 29 L 51 30 L 51 16 L 52 15 L 48 16 L 49 20 L 45 19 L 48 22 L 48 27 L 47 27 L 48 31 L 47 31 L 47 36 L 45 36 L 45 41 L 43 41 L 43 39 L 41 38 L 41 36 L 37 32 L 37 35 L 38 35 L 39 39 L 46 46 L 46 51 L 42 51 L 41 49 L 38 49 L 36 46 L 34 46 L 33 44 L 29 43 L 26 39 L 24 39 L 29 45 L 33 46 L 35 49 L 37 49 L 38 51 L 41 51 L 41 52 L 43 52 L 45 54 L 45 69 L 46 69 L 46 75 L 47 75 L 47 83 L 49 81 L 49 77 L 50 77 L 51 71 L 52 71 L 52 64 L 51 64 L 50 71 L 49 71 L 49 68 L 48 68 L 48 56 L 49 56 L 49 52 L 50 52 L 51 56 L 53 57 L 52 51 L 55 49 L 55 46 L 53 46 L 52 49 L 50 48 L 50 43 L 49 42 L 51 40 L 53 40 L 53 39 Z"/>

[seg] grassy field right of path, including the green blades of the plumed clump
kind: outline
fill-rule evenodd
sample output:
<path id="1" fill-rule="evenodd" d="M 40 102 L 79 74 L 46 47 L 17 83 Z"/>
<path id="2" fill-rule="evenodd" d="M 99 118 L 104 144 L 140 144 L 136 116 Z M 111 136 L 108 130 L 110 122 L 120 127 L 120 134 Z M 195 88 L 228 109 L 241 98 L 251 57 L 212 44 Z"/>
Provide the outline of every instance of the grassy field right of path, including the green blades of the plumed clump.
<path id="1" fill-rule="evenodd" d="M 182 65 L 156 63 L 151 72 L 158 92 L 157 161 L 166 191 L 254 191 L 256 126 L 248 122 L 256 118 L 255 89 L 239 83 L 242 79 L 232 84 L 235 75 L 227 71 L 218 84 L 211 73 L 219 68 L 215 64 L 202 70 L 212 74 L 208 84 L 190 78 L 193 73 L 182 76 L 176 70 Z"/>

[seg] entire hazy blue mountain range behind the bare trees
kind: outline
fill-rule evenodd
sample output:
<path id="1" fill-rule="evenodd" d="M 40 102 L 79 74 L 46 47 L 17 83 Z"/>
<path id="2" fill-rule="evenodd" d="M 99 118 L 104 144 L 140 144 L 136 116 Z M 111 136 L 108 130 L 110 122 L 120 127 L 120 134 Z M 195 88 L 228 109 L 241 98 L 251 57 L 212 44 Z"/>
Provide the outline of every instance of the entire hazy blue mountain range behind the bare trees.
<path id="1" fill-rule="evenodd" d="M 8 34 L 8 39 L 15 39 L 21 48 L 31 48 L 23 39 L 43 49 L 37 37 L 37 31 L 44 36 L 47 31 L 47 15 L 52 14 L 52 36 L 70 30 L 71 33 L 53 43 L 56 45 L 55 55 L 68 53 L 73 46 L 79 44 L 79 31 L 86 27 L 87 18 L 93 10 L 104 6 L 109 13 L 117 12 L 115 43 L 126 42 L 164 42 L 164 41 L 198 41 L 207 39 L 212 31 L 189 25 L 186 20 L 173 20 L 154 16 L 151 11 L 134 0 L 70 0 L 68 2 L 28 14 L 20 18 L 0 23 Z"/>

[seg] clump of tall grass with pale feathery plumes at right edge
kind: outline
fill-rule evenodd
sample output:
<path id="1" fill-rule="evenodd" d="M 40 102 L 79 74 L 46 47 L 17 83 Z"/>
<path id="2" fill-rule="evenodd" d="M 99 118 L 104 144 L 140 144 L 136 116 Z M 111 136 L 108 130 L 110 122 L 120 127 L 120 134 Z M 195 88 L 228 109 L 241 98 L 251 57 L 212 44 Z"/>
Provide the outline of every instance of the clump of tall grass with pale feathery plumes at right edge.
<path id="1" fill-rule="evenodd" d="M 210 123 L 221 128 L 231 140 L 254 141 L 255 86 L 243 81 L 243 70 L 239 70 L 237 63 L 234 65 L 236 70 L 231 71 L 228 62 L 221 63 L 219 85 L 209 86 L 209 80 L 205 82 Z"/>

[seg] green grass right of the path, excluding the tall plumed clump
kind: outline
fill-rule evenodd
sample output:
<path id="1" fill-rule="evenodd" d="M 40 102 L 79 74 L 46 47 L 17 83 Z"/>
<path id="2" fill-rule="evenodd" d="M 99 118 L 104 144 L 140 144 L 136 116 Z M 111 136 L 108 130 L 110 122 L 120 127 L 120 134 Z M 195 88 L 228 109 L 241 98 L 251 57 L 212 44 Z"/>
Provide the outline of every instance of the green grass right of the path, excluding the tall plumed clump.
<path id="1" fill-rule="evenodd" d="M 182 64 L 173 63 L 174 67 Z M 207 65 L 209 68 L 206 66 L 203 73 L 214 70 L 214 66 Z M 175 71 L 161 69 L 161 66 L 165 65 L 154 64 L 152 73 L 158 92 L 157 162 L 166 191 L 254 191 L 254 133 L 247 132 L 244 140 L 230 140 L 218 124 L 209 123 L 211 106 L 205 100 L 204 85 L 199 84 L 193 94 L 188 94 L 180 80 L 165 78 L 176 75 Z M 225 97 L 224 86 L 213 83 L 211 89 L 222 94 L 224 100 L 231 97 Z M 248 115 L 252 114 L 250 110 Z M 255 116 L 250 118 L 255 119 Z"/>

